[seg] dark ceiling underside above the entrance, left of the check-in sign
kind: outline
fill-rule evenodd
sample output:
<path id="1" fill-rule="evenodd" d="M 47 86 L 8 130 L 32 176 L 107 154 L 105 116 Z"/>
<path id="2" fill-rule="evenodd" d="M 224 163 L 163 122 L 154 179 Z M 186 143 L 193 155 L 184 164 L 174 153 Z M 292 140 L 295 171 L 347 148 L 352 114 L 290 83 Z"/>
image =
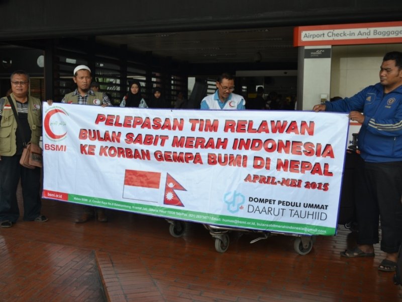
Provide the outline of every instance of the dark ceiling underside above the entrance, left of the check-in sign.
<path id="1" fill-rule="evenodd" d="M 297 61 L 293 27 L 107 35 L 96 40 L 190 63 Z"/>

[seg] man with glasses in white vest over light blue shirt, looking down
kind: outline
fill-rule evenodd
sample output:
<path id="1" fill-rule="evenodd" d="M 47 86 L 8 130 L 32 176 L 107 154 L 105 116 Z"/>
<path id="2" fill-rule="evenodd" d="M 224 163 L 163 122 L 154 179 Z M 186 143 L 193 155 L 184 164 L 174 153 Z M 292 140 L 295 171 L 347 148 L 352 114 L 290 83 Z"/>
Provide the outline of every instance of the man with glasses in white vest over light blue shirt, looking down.
<path id="1" fill-rule="evenodd" d="M 242 96 L 234 94 L 235 80 L 233 75 L 222 73 L 216 82 L 217 91 L 201 101 L 201 109 L 244 110 L 246 101 Z"/>

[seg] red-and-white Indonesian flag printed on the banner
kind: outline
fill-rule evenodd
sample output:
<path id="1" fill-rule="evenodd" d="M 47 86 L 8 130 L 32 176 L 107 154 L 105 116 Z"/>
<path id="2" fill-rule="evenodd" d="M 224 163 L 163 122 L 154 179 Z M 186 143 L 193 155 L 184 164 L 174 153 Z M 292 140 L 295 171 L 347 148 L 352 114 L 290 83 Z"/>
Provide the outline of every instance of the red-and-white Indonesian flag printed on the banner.
<path id="1" fill-rule="evenodd" d="M 159 172 L 126 170 L 123 198 L 158 202 L 160 176 Z"/>

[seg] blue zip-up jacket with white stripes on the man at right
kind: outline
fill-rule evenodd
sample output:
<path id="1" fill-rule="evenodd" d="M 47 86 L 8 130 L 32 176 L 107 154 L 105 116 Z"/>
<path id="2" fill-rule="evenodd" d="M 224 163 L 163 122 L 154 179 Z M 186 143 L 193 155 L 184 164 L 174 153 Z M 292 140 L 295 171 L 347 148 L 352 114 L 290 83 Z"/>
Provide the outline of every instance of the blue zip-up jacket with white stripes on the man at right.
<path id="1" fill-rule="evenodd" d="M 326 111 L 364 114 L 357 145 L 366 162 L 402 161 L 402 86 L 384 94 L 383 86 L 377 83 L 351 98 L 325 105 Z"/>

